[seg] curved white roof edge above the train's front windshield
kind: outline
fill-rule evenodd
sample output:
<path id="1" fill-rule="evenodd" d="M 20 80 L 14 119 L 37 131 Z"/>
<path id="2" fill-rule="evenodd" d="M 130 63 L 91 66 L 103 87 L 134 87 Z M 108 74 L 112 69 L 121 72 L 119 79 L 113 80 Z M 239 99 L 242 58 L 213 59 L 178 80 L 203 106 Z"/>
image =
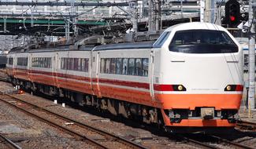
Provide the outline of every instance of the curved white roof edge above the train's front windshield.
<path id="1" fill-rule="evenodd" d="M 191 22 L 184 24 L 176 24 L 172 27 L 168 27 L 165 31 L 182 31 L 182 30 L 215 30 L 215 31 L 225 31 L 224 27 L 216 24 L 201 23 L 201 22 Z"/>

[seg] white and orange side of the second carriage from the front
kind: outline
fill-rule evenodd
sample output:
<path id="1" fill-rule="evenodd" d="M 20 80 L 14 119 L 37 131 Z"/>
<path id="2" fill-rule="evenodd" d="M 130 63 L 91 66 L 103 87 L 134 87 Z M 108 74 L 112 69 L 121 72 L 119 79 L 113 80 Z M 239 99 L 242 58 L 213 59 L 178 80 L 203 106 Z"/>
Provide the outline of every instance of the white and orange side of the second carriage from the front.
<path id="1" fill-rule="evenodd" d="M 91 51 L 58 52 L 56 76 L 59 88 L 92 94 Z"/>

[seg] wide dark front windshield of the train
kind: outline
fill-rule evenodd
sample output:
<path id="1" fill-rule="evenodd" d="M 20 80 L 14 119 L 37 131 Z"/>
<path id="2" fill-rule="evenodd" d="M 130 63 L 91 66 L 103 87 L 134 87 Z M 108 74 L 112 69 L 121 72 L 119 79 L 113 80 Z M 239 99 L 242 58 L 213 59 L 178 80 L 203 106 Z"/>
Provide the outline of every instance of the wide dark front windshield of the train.
<path id="1" fill-rule="evenodd" d="M 238 46 L 224 31 L 176 31 L 169 50 L 177 53 L 237 53 Z"/>

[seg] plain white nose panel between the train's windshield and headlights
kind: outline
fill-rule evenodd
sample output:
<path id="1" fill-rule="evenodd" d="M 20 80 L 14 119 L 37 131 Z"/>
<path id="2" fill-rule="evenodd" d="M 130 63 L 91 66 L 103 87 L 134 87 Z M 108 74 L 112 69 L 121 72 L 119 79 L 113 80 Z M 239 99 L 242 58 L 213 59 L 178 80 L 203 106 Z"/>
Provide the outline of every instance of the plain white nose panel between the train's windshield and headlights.
<path id="1" fill-rule="evenodd" d="M 179 54 L 171 59 L 171 70 L 164 78 L 184 85 L 187 93 L 223 93 L 227 85 L 243 85 L 240 65 L 242 60 L 234 53 Z"/>

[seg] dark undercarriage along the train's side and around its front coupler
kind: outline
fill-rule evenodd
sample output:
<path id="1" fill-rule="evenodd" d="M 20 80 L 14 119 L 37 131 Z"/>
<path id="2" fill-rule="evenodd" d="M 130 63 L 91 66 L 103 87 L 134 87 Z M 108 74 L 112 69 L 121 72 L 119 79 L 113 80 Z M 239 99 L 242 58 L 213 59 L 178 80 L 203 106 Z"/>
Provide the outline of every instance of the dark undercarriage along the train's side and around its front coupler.
<path id="1" fill-rule="evenodd" d="M 148 125 L 157 125 L 158 128 L 164 129 L 167 132 L 172 133 L 224 133 L 225 130 L 230 131 L 234 129 L 237 120 L 237 111 L 213 111 L 213 117 L 224 118 L 229 124 L 233 126 L 213 126 L 213 127 L 189 127 L 189 126 L 166 126 L 163 119 L 167 116 L 170 122 L 173 124 L 179 124 L 183 119 L 203 119 L 200 117 L 202 111 L 195 109 L 195 111 L 188 110 L 163 110 L 149 107 L 140 104 L 133 104 L 127 101 L 110 99 L 107 97 L 98 98 L 86 93 L 79 93 L 69 89 L 61 89 L 56 86 L 43 85 L 35 82 L 28 82 L 23 79 L 9 78 L 9 81 L 13 85 L 20 85 L 21 89 L 24 89 L 28 93 L 43 93 L 47 96 L 54 97 L 64 102 L 71 102 L 72 104 L 78 104 L 81 107 L 93 107 L 95 110 L 102 113 L 109 112 L 115 116 L 121 115 L 124 118 L 130 118 L 136 122 L 143 122 Z M 209 110 L 209 109 L 206 109 Z M 206 112 L 207 113 L 207 112 Z M 206 120 L 209 115 L 205 115 Z"/>

